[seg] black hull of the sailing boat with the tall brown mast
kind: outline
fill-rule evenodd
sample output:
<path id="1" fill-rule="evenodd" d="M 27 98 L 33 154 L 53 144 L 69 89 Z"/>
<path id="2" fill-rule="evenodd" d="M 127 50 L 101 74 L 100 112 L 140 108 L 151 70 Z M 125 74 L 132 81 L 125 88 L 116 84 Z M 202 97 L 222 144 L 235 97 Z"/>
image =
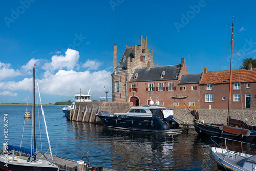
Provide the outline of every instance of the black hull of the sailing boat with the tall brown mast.
<path id="1" fill-rule="evenodd" d="M 238 140 L 256 140 L 256 132 L 254 131 L 251 131 L 250 136 L 247 137 L 247 136 L 225 132 L 221 130 L 219 126 L 201 124 L 196 122 L 195 120 L 194 120 L 194 127 L 196 132 L 199 135 L 203 135 L 203 136 L 218 136 L 218 137 L 226 137 L 226 138 L 232 138 L 232 139 L 238 139 Z"/>

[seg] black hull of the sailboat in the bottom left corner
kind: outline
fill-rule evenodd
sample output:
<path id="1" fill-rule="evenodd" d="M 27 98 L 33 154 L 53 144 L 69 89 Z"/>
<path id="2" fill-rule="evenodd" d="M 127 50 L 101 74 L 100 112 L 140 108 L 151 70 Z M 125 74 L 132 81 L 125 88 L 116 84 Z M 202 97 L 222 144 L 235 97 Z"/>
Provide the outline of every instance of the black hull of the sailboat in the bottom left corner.
<path id="1" fill-rule="evenodd" d="M 0 170 L 10 170 L 10 171 L 34 171 L 34 170 L 40 170 L 40 171 L 58 171 L 59 168 L 53 168 L 53 167 L 35 167 L 35 166 L 24 166 L 24 164 L 10 164 L 8 163 L 6 167 L 6 163 L 0 162 Z"/>

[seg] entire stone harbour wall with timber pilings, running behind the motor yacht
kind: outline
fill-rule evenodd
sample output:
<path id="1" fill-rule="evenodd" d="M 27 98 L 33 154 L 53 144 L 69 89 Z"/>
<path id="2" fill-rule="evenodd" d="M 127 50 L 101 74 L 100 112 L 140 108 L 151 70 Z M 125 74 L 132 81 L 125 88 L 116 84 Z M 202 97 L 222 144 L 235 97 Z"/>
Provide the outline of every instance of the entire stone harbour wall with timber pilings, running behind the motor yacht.
<path id="1" fill-rule="evenodd" d="M 76 102 L 72 116 L 67 118 L 72 121 L 89 122 L 102 124 L 100 119 L 96 117 L 96 113 L 100 111 L 107 111 L 110 114 L 117 112 L 127 112 L 133 106 L 132 102 Z M 199 113 L 199 121 L 204 123 L 220 123 L 226 124 L 227 110 L 222 109 L 196 109 Z M 256 125 L 256 110 L 231 110 L 230 116 L 232 119 L 245 121 L 248 119 L 249 125 Z M 178 119 L 181 124 L 192 124 L 193 116 L 186 108 L 174 108 L 174 117 Z"/>

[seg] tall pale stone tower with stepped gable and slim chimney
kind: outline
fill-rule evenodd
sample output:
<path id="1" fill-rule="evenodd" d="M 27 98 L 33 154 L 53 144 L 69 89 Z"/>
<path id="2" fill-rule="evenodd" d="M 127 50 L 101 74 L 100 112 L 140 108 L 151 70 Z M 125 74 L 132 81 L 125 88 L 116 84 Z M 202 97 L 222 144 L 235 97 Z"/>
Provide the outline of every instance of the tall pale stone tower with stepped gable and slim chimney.
<path id="1" fill-rule="evenodd" d="M 112 77 L 112 101 L 127 101 L 127 81 L 136 68 L 154 67 L 153 50 L 147 48 L 147 37 L 140 36 L 140 45 L 127 46 L 117 65 L 117 46 L 114 45 Z"/>

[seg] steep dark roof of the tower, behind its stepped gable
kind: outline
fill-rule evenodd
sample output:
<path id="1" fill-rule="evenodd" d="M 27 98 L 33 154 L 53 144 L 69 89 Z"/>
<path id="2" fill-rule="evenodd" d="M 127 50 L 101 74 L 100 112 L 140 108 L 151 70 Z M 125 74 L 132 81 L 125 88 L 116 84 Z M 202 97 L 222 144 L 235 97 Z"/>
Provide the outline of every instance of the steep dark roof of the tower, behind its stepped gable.
<path id="1" fill-rule="evenodd" d="M 122 56 L 121 60 L 119 61 L 119 65 L 116 67 L 116 68 L 119 68 L 119 71 L 127 70 L 128 57 L 134 58 L 134 46 L 127 46 L 125 48 L 123 56 Z"/>

